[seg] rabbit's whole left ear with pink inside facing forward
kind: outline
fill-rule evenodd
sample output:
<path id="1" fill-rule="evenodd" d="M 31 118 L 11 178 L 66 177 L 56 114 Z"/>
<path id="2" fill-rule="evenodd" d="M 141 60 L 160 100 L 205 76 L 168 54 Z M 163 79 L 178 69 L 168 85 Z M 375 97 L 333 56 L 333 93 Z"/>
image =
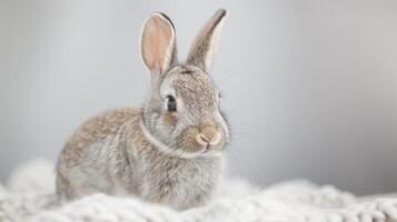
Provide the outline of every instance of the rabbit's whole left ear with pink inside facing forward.
<path id="1" fill-rule="evenodd" d="M 146 20 L 140 50 L 142 60 L 151 72 L 163 73 L 177 63 L 175 28 L 166 14 L 155 12 Z"/>

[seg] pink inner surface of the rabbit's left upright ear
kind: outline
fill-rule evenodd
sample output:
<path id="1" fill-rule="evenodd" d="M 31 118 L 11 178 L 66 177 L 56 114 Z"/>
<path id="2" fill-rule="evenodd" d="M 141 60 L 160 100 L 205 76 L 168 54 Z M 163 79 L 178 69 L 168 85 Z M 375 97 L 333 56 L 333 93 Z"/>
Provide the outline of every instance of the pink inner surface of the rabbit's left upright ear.
<path id="1" fill-rule="evenodd" d="M 142 57 L 150 70 L 163 71 L 169 59 L 173 31 L 171 24 L 160 16 L 153 16 L 145 24 L 142 33 Z"/>

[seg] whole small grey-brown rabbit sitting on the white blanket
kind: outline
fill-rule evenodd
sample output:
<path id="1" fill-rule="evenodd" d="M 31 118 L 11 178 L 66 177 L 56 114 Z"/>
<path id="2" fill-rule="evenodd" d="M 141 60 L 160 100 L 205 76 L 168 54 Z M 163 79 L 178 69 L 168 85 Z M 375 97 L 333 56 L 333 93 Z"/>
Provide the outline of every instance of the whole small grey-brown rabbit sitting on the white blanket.
<path id="1" fill-rule="evenodd" d="M 60 203 L 97 192 L 176 210 L 211 200 L 229 141 L 209 75 L 226 16 L 216 11 L 185 62 L 177 59 L 171 20 L 155 12 L 145 21 L 140 51 L 151 73 L 149 95 L 141 108 L 93 117 L 67 141 L 56 167 Z"/>

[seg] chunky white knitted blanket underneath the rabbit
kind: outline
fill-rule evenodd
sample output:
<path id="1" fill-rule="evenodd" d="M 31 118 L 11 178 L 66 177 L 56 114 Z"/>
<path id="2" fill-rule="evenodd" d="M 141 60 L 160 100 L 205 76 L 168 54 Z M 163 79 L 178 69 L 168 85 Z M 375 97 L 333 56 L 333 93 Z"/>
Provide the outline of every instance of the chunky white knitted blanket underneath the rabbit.
<path id="1" fill-rule="evenodd" d="M 355 198 L 334 186 L 305 181 L 261 190 L 241 180 L 225 180 L 212 203 L 183 212 L 105 194 L 54 206 L 53 181 L 51 162 L 37 160 L 20 165 L 7 186 L 0 184 L 0 222 L 397 222 L 395 198 Z"/>

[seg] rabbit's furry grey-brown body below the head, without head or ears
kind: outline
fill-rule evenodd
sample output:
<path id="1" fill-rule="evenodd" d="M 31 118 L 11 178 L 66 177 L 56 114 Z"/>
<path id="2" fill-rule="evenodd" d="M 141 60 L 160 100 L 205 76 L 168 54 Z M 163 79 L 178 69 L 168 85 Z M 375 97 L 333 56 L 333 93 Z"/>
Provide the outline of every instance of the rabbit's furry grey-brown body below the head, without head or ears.
<path id="1" fill-rule="evenodd" d="M 208 200 L 221 172 L 222 157 L 169 157 L 145 139 L 140 121 L 141 112 L 133 108 L 87 121 L 59 158 L 60 198 L 95 192 L 131 194 L 177 209 Z"/>

